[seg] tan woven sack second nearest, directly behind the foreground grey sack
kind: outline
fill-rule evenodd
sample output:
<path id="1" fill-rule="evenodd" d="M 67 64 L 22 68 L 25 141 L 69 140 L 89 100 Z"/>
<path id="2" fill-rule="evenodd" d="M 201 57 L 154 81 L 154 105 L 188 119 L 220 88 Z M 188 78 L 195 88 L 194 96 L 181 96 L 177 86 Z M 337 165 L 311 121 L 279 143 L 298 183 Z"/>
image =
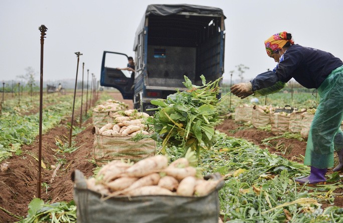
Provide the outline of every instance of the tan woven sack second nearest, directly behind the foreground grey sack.
<path id="1" fill-rule="evenodd" d="M 155 154 L 155 141 L 142 139 L 131 141 L 132 136 L 94 135 L 93 152 L 98 166 L 114 159 L 138 161 Z"/>

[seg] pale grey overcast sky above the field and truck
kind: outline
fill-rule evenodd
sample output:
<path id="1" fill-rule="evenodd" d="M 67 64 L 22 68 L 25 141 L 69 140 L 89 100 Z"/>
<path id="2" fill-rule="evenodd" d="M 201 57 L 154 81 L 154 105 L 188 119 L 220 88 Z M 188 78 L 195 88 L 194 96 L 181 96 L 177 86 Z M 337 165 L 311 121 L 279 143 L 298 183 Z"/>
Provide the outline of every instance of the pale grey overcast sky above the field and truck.
<path id="1" fill-rule="evenodd" d="M 342 0 L 0 0 L 0 81 L 20 80 L 26 68 L 40 79 L 40 36 L 44 24 L 44 80 L 74 79 L 81 52 L 85 72 L 100 79 L 103 51 L 134 56 L 136 28 L 150 4 L 192 4 L 221 8 L 226 27 L 225 73 L 244 64 L 250 80 L 275 67 L 264 40 L 287 31 L 295 43 L 328 51 L 343 59 Z M 125 66 L 125 65 L 124 65 Z M 86 74 L 86 73 L 85 73 Z M 238 73 L 233 79 L 238 79 Z M 80 77 L 80 76 L 79 76 Z"/>

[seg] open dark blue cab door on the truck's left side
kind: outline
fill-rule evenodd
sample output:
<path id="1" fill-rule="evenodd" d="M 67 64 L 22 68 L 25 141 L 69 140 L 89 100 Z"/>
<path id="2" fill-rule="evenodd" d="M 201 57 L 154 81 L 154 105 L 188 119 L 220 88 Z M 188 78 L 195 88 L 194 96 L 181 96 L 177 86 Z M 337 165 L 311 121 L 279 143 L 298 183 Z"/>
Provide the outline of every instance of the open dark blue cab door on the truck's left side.
<path id="1" fill-rule="evenodd" d="M 101 63 L 100 85 L 120 91 L 123 99 L 133 99 L 134 77 L 131 71 L 117 70 L 127 67 L 128 56 L 122 53 L 104 51 Z"/>

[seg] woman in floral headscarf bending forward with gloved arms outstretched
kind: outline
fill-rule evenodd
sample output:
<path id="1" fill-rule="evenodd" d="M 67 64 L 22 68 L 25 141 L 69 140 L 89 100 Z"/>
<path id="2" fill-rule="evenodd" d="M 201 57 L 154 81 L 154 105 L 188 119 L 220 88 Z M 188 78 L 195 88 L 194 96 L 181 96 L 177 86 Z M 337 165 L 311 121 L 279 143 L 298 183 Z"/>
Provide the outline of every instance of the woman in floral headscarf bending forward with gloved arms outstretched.
<path id="1" fill-rule="evenodd" d="M 278 64 L 273 71 L 257 75 L 247 83 L 235 84 L 231 93 L 246 98 L 251 94 L 274 93 L 291 78 L 306 88 L 315 88 L 319 105 L 311 123 L 304 164 L 311 166 L 310 175 L 295 179 L 298 183 L 325 182 L 327 168 L 333 166 L 333 150 L 339 164 L 333 171 L 343 170 L 343 62 L 328 52 L 294 44 L 292 35 L 277 33 L 265 41 L 269 57 Z M 262 91 L 259 91 L 261 90 Z"/>

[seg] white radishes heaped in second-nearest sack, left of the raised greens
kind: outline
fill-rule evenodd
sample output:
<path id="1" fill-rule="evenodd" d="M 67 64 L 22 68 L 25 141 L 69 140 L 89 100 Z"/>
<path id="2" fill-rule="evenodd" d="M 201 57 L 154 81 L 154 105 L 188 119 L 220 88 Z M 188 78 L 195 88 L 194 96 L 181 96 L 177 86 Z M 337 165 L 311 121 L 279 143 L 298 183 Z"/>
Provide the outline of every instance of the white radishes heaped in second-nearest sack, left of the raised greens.
<path id="1" fill-rule="evenodd" d="M 111 123 L 107 123 L 100 129 L 94 126 L 92 131 L 95 135 L 105 136 L 134 136 L 138 133 L 148 135 L 149 126 L 144 124 L 147 117 L 149 117 L 147 113 L 138 112 L 135 109 L 117 111 L 110 114 Z"/>

